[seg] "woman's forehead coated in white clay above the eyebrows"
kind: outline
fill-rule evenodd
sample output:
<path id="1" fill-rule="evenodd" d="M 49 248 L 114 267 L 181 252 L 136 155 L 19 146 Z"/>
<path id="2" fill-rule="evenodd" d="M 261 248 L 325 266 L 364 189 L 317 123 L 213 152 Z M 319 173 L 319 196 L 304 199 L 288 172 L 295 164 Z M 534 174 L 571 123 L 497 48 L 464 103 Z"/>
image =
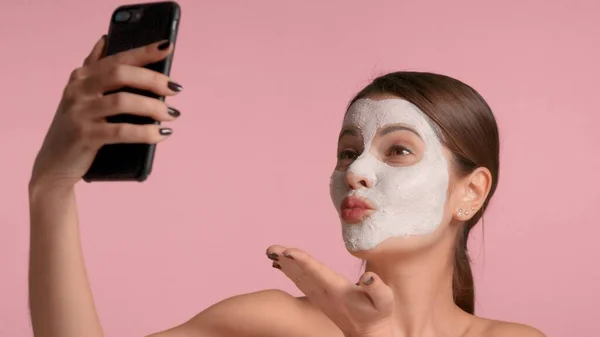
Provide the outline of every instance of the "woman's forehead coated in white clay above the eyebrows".
<path id="1" fill-rule="evenodd" d="M 360 129 L 366 138 L 372 138 L 377 130 L 391 124 L 408 125 L 420 135 L 433 133 L 425 114 L 400 98 L 359 99 L 348 109 L 343 124 L 345 128 Z"/>

